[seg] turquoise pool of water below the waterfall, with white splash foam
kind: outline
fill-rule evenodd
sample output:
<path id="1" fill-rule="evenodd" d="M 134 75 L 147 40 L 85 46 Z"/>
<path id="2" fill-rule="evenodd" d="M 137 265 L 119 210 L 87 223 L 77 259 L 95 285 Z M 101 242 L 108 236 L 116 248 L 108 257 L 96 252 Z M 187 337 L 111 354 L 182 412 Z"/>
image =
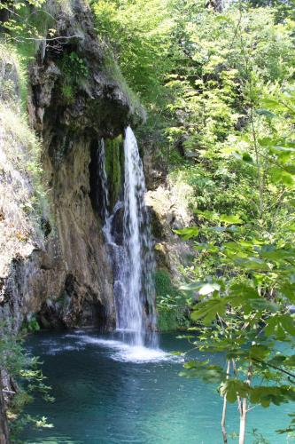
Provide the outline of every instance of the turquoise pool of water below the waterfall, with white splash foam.
<path id="1" fill-rule="evenodd" d="M 186 340 L 170 334 L 161 335 L 159 343 L 164 352 L 189 348 Z M 41 333 L 30 337 L 27 347 L 43 361 L 43 374 L 56 401 L 36 399 L 28 408 L 30 414 L 47 416 L 54 428 L 25 430 L 26 443 L 222 442 L 221 397 L 214 386 L 179 377 L 178 357 L 135 350 L 110 335 L 81 330 Z M 295 442 L 275 432 L 289 423 L 291 407 L 254 408 L 248 415 L 246 442 L 254 442 L 252 428 L 272 444 Z M 238 430 L 235 405 L 229 405 L 227 429 Z"/>

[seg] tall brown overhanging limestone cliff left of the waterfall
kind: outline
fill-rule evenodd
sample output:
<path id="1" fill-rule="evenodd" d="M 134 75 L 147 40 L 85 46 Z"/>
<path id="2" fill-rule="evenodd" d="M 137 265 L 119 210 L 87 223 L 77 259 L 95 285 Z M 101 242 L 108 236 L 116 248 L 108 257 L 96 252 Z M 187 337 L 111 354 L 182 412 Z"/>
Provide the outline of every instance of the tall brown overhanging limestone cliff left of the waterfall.
<path id="1" fill-rule="evenodd" d="M 58 7 L 59 2 L 49 4 L 56 14 L 56 41 L 43 42 L 30 67 L 28 100 L 30 123 L 42 139 L 48 203 L 35 221 L 35 213 L 23 208 L 17 214 L 25 226 L 13 227 L 7 202 L 8 207 L 20 208 L 35 193 L 30 173 L 13 161 L 5 172 L 6 194 L 0 202 L 0 242 L 10 245 L 0 259 L 0 318 L 14 329 L 34 315 L 44 327 L 111 329 L 115 321 L 113 275 L 97 211 L 99 195 L 97 203 L 90 199 L 96 181 L 90 180 L 89 164 L 101 137 L 113 139 L 129 123 L 140 121 L 143 113 L 106 68 L 88 4 L 75 0 L 70 11 Z M 66 78 L 62 61 L 73 53 L 72 57 L 82 59 L 86 73 L 74 81 Z M 66 82 L 72 84 L 70 99 L 63 90 Z M 4 104 L 7 109 L 10 106 Z M 16 155 L 28 149 L 13 128 L 2 135 L 1 155 L 4 140 L 10 137 Z M 0 174 L 5 163 L 1 155 Z M 7 185 L 9 174 L 15 177 L 18 192 Z"/>

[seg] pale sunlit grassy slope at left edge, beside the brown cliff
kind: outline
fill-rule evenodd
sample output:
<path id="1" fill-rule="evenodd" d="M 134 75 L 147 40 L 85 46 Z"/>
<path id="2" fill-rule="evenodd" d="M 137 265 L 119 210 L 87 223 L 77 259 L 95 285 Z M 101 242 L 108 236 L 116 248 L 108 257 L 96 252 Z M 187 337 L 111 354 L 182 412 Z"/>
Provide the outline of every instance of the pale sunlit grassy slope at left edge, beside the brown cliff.
<path id="1" fill-rule="evenodd" d="M 43 242 L 41 218 L 49 214 L 40 163 L 41 143 L 21 107 L 26 77 L 12 44 L 0 44 L 0 246 L 4 263 L 32 240 Z M 26 249 L 25 249 L 26 250 Z"/>

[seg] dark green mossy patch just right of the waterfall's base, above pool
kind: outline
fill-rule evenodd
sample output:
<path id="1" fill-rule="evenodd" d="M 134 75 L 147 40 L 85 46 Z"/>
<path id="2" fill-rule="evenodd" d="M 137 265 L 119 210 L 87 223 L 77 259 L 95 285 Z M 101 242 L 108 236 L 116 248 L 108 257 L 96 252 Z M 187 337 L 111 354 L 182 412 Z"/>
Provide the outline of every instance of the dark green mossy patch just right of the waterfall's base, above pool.
<path id="1" fill-rule="evenodd" d="M 156 303 L 158 310 L 158 329 L 169 331 L 182 329 L 190 325 L 188 307 L 190 299 L 171 281 L 166 270 L 157 270 L 155 274 Z"/>

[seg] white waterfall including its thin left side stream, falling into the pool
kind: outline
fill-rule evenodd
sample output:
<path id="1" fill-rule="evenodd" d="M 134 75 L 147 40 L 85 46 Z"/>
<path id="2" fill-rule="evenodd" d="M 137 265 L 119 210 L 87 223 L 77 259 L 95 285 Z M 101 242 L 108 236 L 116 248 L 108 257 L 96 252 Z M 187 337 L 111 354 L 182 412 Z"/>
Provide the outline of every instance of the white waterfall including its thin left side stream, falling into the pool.
<path id="1" fill-rule="evenodd" d="M 109 212 L 107 177 L 105 173 L 105 144 L 99 152 L 99 173 L 102 182 L 105 206 L 105 241 L 110 247 L 113 260 L 113 293 L 116 305 L 117 330 L 125 340 L 136 346 L 156 346 L 155 310 L 153 285 L 154 258 L 151 241 L 151 226 L 144 203 L 145 181 L 143 163 L 136 137 L 128 127 L 124 139 L 124 197 Z M 116 242 L 113 235 L 113 220 L 124 209 L 123 240 Z"/>

